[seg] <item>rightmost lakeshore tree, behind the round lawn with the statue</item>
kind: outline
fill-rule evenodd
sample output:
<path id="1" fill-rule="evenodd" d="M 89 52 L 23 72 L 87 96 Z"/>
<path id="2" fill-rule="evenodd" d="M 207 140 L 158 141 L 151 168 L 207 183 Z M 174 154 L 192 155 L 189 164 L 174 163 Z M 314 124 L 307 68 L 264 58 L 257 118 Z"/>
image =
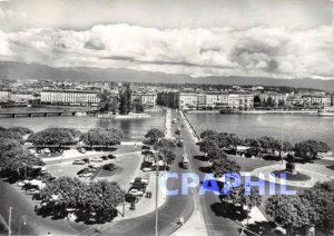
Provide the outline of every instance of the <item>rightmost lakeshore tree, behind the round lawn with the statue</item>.
<path id="1" fill-rule="evenodd" d="M 315 159 L 318 153 L 327 153 L 330 148 L 328 145 L 323 141 L 308 139 L 295 144 L 294 150 L 295 156 L 302 157 L 304 160 L 308 161 Z"/>

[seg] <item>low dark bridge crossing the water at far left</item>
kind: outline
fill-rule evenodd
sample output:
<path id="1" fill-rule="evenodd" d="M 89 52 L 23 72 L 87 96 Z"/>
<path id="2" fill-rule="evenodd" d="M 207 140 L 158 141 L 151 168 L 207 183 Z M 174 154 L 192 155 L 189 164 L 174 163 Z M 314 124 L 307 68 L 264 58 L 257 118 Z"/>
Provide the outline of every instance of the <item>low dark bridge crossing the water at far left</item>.
<path id="1" fill-rule="evenodd" d="M 96 115 L 98 110 L 46 110 L 46 111 L 4 111 L 0 112 L 0 118 L 17 118 L 17 117 L 51 117 L 51 116 L 76 116 L 77 114 Z"/>

